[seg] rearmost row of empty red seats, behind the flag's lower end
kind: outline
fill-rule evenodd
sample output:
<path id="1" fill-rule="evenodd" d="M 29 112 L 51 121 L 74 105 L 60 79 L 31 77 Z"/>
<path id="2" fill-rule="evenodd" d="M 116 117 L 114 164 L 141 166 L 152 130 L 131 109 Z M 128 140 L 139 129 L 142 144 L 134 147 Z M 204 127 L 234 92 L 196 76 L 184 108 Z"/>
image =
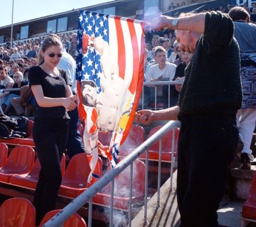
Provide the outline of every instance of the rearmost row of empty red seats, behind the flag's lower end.
<path id="1" fill-rule="evenodd" d="M 161 126 L 158 126 L 156 128 L 151 129 L 149 136 L 153 135 L 154 133 L 159 130 Z M 79 125 L 78 130 L 80 131 L 80 134 L 83 135 L 83 126 Z M 33 142 L 33 121 L 29 120 L 28 124 L 28 138 L 12 138 L 12 139 L 2 139 L 0 138 L 0 142 L 4 142 L 5 144 L 10 145 L 28 145 L 30 147 L 35 147 L 35 144 Z M 167 132 L 163 136 L 163 146 L 162 146 L 162 161 L 170 162 L 171 161 L 171 150 L 172 150 L 172 133 L 173 130 L 170 129 L 169 132 Z M 178 137 L 179 137 L 179 129 L 175 129 L 175 147 L 174 147 L 174 157 L 177 156 L 177 150 L 178 150 Z M 83 136 L 82 136 L 83 138 Z M 109 145 L 111 139 L 111 132 L 103 133 L 99 132 L 99 141 L 103 145 Z M 126 138 L 126 141 L 124 141 L 124 144 L 121 145 L 119 154 L 121 157 L 127 156 L 131 151 L 133 151 L 136 147 L 142 144 L 145 139 L 145 132 L 144 129 L 141 126 L 138 125 L 132 125 L 132 128 L 130 129 L 129 135 Z M 159 141 L 156 141 L 148 151 L 148 157 L 149 160 L 159 160 Z M 145 159 L 145 153 L 141 155 L 141 159 Z"/>

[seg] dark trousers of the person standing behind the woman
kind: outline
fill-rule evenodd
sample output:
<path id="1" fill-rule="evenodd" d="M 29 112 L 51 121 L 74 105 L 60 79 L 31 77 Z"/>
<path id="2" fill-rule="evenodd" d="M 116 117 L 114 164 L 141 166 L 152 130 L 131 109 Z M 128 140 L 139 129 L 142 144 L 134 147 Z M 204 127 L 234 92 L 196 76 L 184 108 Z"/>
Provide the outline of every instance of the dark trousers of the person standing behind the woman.
<path id="1" fill-rule="evenodd" d="M 78 132 L 79 117 L 77 108 L 68 111 L 68 115 L 70 117 L 70 122 L 66 150 L 69 158 L 72 158 L 75 154 L 84 153 L 85 151 L 82 138 Z"/>

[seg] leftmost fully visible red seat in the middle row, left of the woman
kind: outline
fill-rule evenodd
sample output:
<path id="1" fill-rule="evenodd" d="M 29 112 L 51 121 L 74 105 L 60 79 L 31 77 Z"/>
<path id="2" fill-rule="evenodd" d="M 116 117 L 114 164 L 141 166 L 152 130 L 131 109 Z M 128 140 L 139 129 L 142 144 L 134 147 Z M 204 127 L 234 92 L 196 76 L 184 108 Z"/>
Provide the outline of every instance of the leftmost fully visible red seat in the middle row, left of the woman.
<path id="1" fill-rule="evenodd" d="M 10 182 L 11 176 L 31 172 L 35 160 L 35 151 L 32 147 L 19 146 L 13 148 L 7 163 L 0 169 L 0 181 Z"/>

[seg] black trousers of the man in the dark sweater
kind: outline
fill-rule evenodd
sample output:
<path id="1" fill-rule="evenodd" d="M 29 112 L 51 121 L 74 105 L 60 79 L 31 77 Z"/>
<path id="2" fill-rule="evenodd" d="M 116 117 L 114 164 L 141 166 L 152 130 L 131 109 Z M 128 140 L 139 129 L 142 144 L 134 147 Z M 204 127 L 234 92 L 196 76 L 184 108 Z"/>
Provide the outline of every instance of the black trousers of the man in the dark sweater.
<path id="1" fill-rule="evenodd" d="M 234 158 L 235 114 L 194 114 L 181 119 L 177 199 L 182 227 L 217 227 L 227 167 Z"/>

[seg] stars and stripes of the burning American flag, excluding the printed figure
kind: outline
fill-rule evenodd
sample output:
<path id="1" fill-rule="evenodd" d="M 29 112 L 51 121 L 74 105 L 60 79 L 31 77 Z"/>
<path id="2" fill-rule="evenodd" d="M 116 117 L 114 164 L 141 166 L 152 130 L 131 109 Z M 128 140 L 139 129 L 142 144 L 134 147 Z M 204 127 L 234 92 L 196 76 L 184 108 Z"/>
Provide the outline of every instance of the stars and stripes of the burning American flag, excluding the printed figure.
<path id="1" fill-rule="evenodd" d="M 117 130 L 112 132 L 111 144 L 108 148 L 98 141 L 98 152 L 108 157 L 111 167 L 118 163 L 118 147 L 126 139 L 133 117 L 138 106 L 144 79 L 144 23 L 124 17 L 100 14 L 92 11 L 80 11 L 78 15 L 77 36 L 77 71 L 78 80 L 78 112 L 80 119 L 84 119 L 89 134 L 96 129 L 98 113 L 95 107 L 88 111 L 82 103 L 81 81 L 90 80 L 96 85 L 96 92 L 102 92 L 102 62 L 100 53 L 94 48 L 96 38 L 108 43 L 113 61 L 118 64 L 118 76 L 124 80 L 125 94 L 121 103 L 120 119 L 117 119 Z M 110 56 L 109 56 L 110 57 Z M 112 88 L 115 89 L 115 88 Z M 109 100 L 111 102 L 111 100 Z M 102 107 L 104 108 L 104 106 Z M 87 111 L 86 111 L 87 110 Z M 85 120 L 86 119 L 86 120 Z M 90 120 L 93 119 L 93 120 Z M 93 165 L 90 165 L 93 166 Z M 95 166 L 95 165 L 94 165 Z M 92 177 L 98 178 L 92 170 Z"/>

